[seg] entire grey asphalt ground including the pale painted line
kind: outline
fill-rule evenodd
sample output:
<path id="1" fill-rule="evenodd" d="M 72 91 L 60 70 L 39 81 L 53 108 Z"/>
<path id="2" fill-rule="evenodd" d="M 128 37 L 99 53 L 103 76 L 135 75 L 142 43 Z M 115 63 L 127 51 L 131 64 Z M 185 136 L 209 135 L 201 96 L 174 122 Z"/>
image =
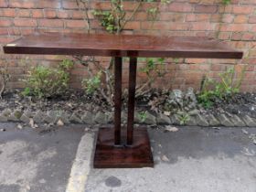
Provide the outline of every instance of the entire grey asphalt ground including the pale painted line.
<path id="1" fill-rule="evenodd" d="M 256 128 L 177 128 L 148 128 L 154 168 L 93 169 L 97 129 L 0 123 L 0 192 L 256 192 Z"/>

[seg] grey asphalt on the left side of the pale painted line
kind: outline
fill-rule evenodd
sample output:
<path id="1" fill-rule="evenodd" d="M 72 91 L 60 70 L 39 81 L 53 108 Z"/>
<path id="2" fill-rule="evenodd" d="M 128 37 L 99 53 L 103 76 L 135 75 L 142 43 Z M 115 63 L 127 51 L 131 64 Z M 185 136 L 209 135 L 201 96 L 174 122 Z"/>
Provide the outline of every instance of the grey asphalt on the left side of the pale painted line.
<path id="1" fill-rule="evenodd" d="M 40 126 L 39 126 L 40 127 Z M 0 123 L 0 192 L 63 192 L 84 126 L 25 128 Z"/>

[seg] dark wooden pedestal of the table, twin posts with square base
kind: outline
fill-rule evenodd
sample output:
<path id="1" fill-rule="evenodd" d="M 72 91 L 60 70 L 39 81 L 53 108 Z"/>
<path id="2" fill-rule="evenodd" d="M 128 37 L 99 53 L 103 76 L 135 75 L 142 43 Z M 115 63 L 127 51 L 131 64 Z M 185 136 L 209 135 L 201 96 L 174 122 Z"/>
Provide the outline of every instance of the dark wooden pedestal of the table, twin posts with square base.
<path id="1" fill-rule="evenodd" d="M 153 167 L 153 155 L 146 127 L 133 130 L 137 59 L 130 60 L 127 132 L 121 129 L 122 58 L 114 63 L 114 128 L 99 130 L 94 154 L 94 168 Z M 126 144 L 123 144 L 124 140 Z"/>

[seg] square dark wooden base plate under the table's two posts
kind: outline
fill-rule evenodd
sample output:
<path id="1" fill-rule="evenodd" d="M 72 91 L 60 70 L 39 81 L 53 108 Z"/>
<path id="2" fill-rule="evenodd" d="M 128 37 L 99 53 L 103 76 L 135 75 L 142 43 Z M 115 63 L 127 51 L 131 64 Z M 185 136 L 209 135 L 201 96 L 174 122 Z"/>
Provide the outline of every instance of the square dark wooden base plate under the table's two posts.
<path id="1" fill-rule="evenodd" d="M 125 129 L 122 129 L 125 130 Z M 125 139 L 126 133 L 122 133 Z M 133 130 L 133 145 L 114 145 L 114 129 L 100 128 L 94 155 L 94 168 L 154 167 L 146 128 Z"/>

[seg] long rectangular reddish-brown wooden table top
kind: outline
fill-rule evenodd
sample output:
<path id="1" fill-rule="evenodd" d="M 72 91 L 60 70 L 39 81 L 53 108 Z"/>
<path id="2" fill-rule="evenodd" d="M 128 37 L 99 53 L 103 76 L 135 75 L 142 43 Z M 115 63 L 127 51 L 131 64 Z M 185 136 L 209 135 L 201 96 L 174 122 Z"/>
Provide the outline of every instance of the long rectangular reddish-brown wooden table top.
<path id="1" fill-rule="evenodd" d="M 106 57 L 241 59 L 242 51 L 208 37 L 42 33 L 20 37 L 5 53 Z"/>

